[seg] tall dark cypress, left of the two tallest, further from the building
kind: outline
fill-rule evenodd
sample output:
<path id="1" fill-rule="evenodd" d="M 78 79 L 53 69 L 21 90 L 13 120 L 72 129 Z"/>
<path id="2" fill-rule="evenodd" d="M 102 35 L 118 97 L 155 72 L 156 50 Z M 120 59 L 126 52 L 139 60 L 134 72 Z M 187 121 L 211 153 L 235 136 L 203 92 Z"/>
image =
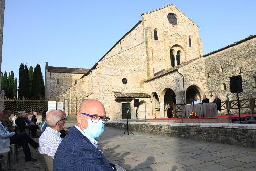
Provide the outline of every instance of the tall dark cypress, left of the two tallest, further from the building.
<path id="1" fill-rule="evenodd" d="M 29 70 L 28 66 L 23 63 L 19 68 L 19 85 L 18 85 L 18 98 L 30 98 L 29 93 Z"/>

